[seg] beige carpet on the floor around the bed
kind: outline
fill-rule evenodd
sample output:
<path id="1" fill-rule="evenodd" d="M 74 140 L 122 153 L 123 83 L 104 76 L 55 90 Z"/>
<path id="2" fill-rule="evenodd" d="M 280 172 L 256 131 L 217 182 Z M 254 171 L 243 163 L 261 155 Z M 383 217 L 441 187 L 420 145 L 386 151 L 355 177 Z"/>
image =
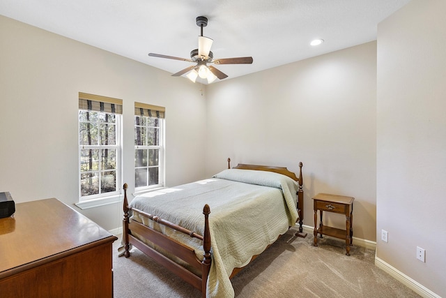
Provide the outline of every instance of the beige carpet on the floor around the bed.
<path id="1" fill-rule="evenodd" d="M 236 297 L 420 297 L 374 265 L 375 251 L 337 239 L 294 237 L 291 229 L 232 279 Z M 133 248 L 118 258 L 114 243 L 114 297 L 201 297 L 201 292 Z"/>

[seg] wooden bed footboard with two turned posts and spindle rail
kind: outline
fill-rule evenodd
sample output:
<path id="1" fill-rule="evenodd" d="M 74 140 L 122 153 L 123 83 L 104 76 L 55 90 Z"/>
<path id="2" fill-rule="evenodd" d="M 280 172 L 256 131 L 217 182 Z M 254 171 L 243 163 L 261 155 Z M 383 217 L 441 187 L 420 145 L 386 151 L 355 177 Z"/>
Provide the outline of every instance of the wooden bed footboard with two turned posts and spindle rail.
<path id="1" fill-rule="evenodd" d="M 210 230 L 209 230 L 209 219 L 208 219 L 210 214 L 210 207 L 208 206 L 208 204 L 206 204 L 203 207 L 204 234 L 203 236 L 201 236 L 193 231 L 187 230 L 181 227 L 180 225 L 176 225 L 174 223 L 166 221 L 158 216 L 147 214 L 144 211 L 129 207 L 127 198 L 127 188 L 128 188 L 127 184 L 124 184 L 123 188 L 124 188 L 123 242 L 125 249 L 124 251 L 125 258 L 130 257 L 130 244 L 132 244 L 135 247 L 137 247 L 140 251 L 153 258 L 153 260 L 160 263 L 160 265 L 163 265 L 166 269 L 169 269 L 169 271 L 176 274 L 187 283 L 190 283 L 190 285 L 193 285 L 194 288 L 201 290 L 201 292 L 203 293 L 203 297 L 206 297 L 206 282 L 208 280 L 208 274 L 211 263 Z M 155 221 L 162 225 L 166 225 L 171 229 L 177 230 L 178 232 L 182 232 L 183 234 L 187 234 L 190 237 L 194 237 L 203 241 L 203 251 L 204 251 L 203 260 L 199 260 L 197 258 L 197 255 L 195 255 L 193 248 L 185 246 L 184 244 L 181 244 L 180 242 L 167 237 L 166 235 L 162 234 L 161 232 L 158 232 L 157 230 L 151 227 L 148 227 L 136 221 L 130 221 L 129 217 L 130 210 L 137 211 L 140 216 L 144 216 L 150 219 L 151 221 Z M 151 243 L 155 244 L 156 246 L 163 248 L 165 251 L 168 251 L 172 255 L 175 255 L 176 257 L 180 258 L 188 265 L 190 265 L 197 271 L 201 272 L 200 276 L 197 276 L 190 269 L 187 269 L 182 265 L 178 265 L 170 258 L 167 258 L 167 256 L 163 255 L 162 253 L 159 253 L 151 246 L 148 246 L 137 237 L 134 237 L 133 233 L 140 235 L 144 239 L 148 239 L 148 241 L 151 241 Z"/>

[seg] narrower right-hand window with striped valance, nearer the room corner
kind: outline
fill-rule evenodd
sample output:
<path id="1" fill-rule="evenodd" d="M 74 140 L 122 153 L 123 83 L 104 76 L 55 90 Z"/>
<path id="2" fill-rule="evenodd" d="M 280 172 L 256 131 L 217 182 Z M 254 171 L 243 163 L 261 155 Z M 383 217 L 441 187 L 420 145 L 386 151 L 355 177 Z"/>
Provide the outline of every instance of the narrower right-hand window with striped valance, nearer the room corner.
<path id="1" fill-rule="evenodd" d="M 165 108 L 134 103 L 134 188 L 164 186 Z"/>

